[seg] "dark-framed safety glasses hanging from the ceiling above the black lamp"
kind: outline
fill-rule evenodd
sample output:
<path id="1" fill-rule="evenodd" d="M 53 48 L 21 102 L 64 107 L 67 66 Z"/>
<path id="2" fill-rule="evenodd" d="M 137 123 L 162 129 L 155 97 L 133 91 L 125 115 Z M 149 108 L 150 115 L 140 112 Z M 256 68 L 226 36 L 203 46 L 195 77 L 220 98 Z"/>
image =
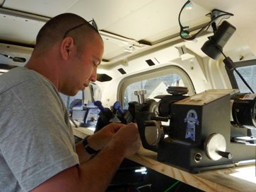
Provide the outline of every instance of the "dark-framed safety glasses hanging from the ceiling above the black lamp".
<path id="1" fill-rule="evenodd" d="M 222 16 L 233 16 L 232 13 L 228 13 L 228 12 L 225 12 L 225 11 L 220 11 L 220 10 L 217 10 L 215 9 L 216 11 L 220 11 L 222 12 L 223 14 L 219 15 L 219 16 L 216 16 L 216 17 L 213 17 L 212 16 L 212 12 L 209 13 L 211 15 L 211 20 L 209 21 L 209 23 L 207 23 L 206 25 L 204 25 L 203 28 L 201 28 L 198 32 L 196 32 L 194 35 L 191 35 L 190 37 L 185 37 L 185 35 L 189 35 L 190 34 L 190 31 L 188 31 L 187 29 L 189 28 L 188 26 L 185 26 L 183 27 L 182 24 L 180 23 L 180 15 L 183 11 L 183 9 L 185 8 L 185 6 L 187 6 L 187 4 L 190 4 L 191 1 L 187 1 L 183 6 L 182 8 L 180 9 L 180 13 L 179 13 L 179 16 L 178 16 L 178 21 L 179 21 L 179 25 L 180 25 L 180 37 L 183 39 L 183 40 L 194 40 L 199 34 L 201 34 L 205 29 L 208 29 L 209 26 L 212 24 L 212 23 L 215 23 L 215 21 L 218 19 L 218 18 L 221 18 Z M 207 14 L 208 15 L 208 14 Z M 184 35 L 185 34 L 185 35 Z"/>

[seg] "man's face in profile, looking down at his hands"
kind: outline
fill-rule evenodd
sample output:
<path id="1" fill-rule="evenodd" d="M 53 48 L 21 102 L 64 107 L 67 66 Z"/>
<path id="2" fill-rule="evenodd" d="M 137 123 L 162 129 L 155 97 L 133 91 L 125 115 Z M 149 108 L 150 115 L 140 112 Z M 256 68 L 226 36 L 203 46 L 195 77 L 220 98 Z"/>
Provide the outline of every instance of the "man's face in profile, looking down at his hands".
<path id="1" fill-rule="evenodd" d="M 84 90 L 90 81 L 95 82 L 103 49 L 103 41 L 95 34 L 82 51 L 76 52 L 66 71 L 66 85 L 62 90 L 65 95 L 74 96 L 79 90 Z"/>

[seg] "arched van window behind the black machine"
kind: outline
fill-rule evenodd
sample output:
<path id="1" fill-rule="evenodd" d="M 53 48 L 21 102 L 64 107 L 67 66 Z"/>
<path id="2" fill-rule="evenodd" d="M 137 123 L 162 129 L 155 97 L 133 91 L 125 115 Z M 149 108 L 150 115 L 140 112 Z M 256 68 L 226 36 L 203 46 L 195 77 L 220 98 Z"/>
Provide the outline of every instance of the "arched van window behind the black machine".
<path id="1" fill-rule="evenodd" d="M 144 79 L 127 83 L 129 85 L 125 86 L 123 102 L 124 109 L 128 109 L 129 102 L 139 102 L 138 96 L 134 94 L 137 90 L 146 90 L 146 94 L 144 95 L 145 100 L 154 99 L 157 95 L 168 94 L 167 88 L 169 86 L 187 87 L 189 90 L 188 95 L 194 94 L 194 88 L 190 78 L 187 76 L 185 71 L 182 71 L 182 69 L 178 67 L 172 67 L 168 70 L 165 69 L 162 73 L 161 71 L 158 71 L 158 73 L 152 72 L 151 74 L 149 72 L 149 74 L 145 76 L 142 75 L 141 78 Z"/>

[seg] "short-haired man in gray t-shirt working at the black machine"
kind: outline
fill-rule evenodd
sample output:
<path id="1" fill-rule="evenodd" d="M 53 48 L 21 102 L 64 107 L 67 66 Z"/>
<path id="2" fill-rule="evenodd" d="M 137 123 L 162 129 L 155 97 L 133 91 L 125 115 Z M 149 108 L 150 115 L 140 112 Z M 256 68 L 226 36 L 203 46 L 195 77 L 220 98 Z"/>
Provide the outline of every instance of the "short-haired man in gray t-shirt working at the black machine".
<path id="1" fill-rule="evenodd" d="M 110 124 L 74 146 L 58 92 L 76 95 L 95 81 L 102 55 L 98 30 L 64 13 L 40 30 L 25 67 L 0 76 L 1 191 L 105 191 L 139 149 L 136 124 Z"/>

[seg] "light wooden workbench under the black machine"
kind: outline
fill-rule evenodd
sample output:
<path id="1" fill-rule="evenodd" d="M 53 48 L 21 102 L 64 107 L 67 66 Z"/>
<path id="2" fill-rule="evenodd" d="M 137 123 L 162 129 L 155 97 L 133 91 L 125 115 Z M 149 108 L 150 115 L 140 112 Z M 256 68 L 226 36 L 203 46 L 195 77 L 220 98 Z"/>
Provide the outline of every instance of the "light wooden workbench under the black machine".
<path id="1" fill-rule="evenodd" d="M 73 131 L 74 135 L 80 138 L 84 138 L 93 133 L 93 131 L 87 128 L 73 128 Z M 128 159 L 153 169 L 156 172 L 170 176 L 173 179 L 182 181 L 185 184 L 199 188 L 202 191 L 256 191 L 255 164 L 191 174 L 170 166 L 169 164 L 158 162 L 156 155 L 156 152 L 141 148 L 136 155 L 132 155 L 132 157 Z M 237 177 L 239 175 L 244 175 L 247 179 L 240 179 Z"/>

